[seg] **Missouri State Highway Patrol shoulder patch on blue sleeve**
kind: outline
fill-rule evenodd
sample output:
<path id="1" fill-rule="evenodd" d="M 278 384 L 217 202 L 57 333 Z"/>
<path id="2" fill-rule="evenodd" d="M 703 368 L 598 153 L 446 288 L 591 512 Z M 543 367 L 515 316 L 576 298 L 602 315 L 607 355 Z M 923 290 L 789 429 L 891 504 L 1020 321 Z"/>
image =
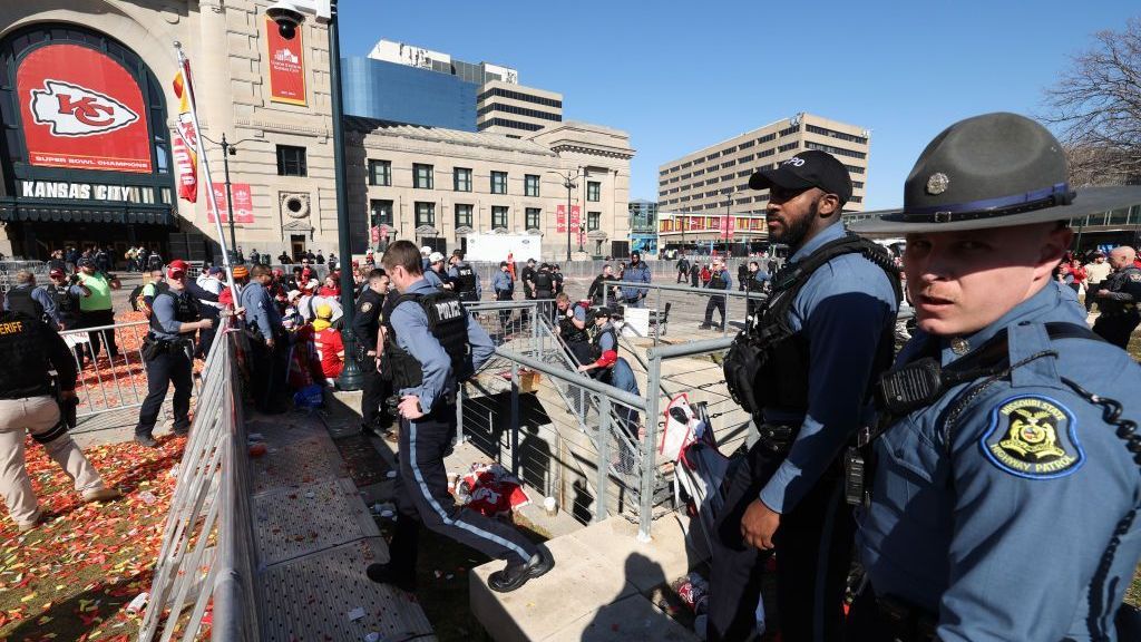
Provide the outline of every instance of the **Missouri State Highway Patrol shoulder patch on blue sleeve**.
<path id="1" fill-rule="evenodd" d="M 1077 419 L 1061 402 L 1042 395 L 1012 396 L 990 411 L 979 446 L 998 470 L 1019 478 L 1065 478 L 1085 464 Z"/>

